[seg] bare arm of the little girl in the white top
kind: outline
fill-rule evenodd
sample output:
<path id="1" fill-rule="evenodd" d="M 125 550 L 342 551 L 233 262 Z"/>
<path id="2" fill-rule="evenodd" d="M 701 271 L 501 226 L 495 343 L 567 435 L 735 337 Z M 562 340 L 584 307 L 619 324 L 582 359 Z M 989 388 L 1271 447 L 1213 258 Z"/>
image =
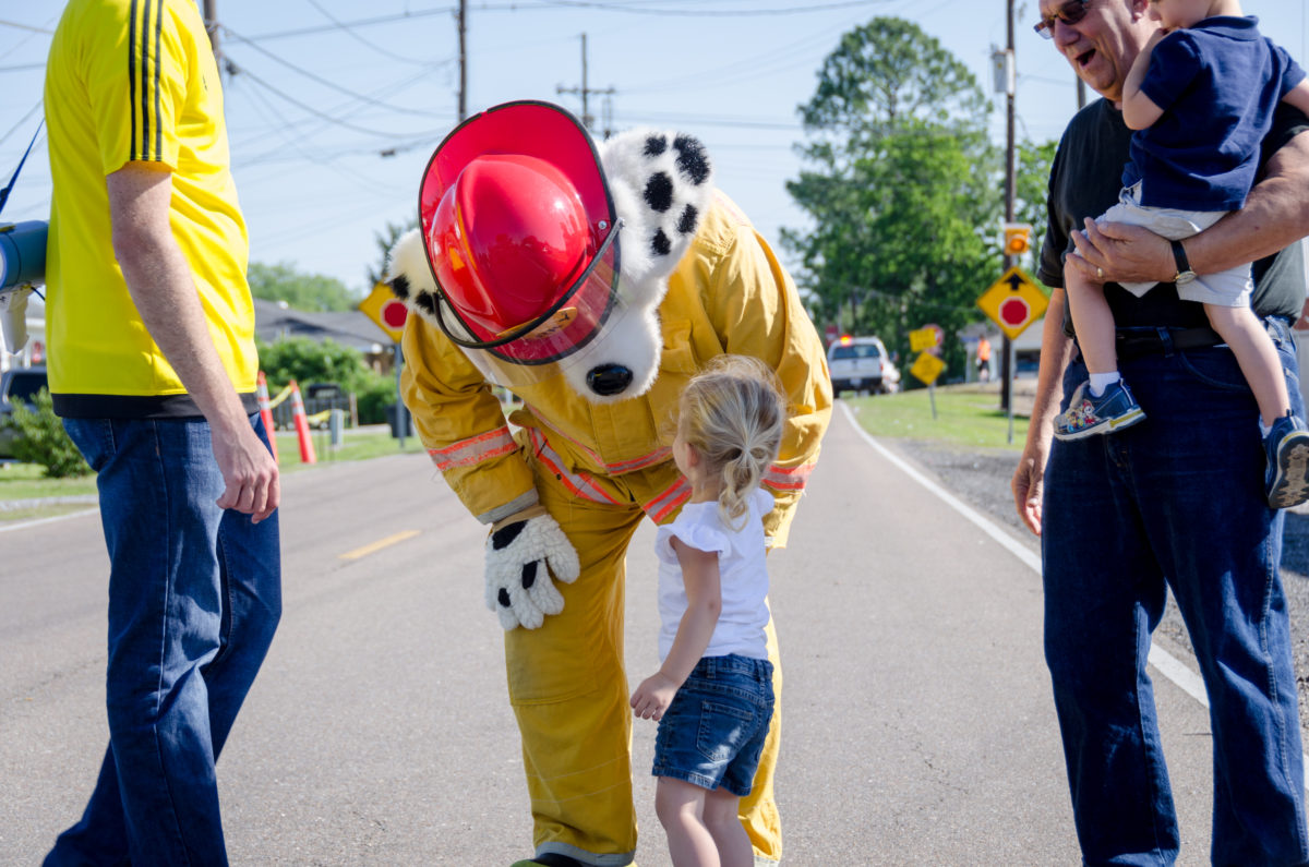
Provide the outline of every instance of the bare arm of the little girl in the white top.
<path id="1" fill-rule="evenodd" d="M 682 622 L 677 627 L 673 647 L 664 664 L 632 693 L 632 710 L 641 719 L 664 716 L 678 688 L 686 682 L 691 669 L 704 656 L 704 648 L 709 646 L 719 613 L 723 610 L 717 553 L 690 547 L 675 536 L 670 542 L 682 564 L 686 613 L 682 614 Z"/>

